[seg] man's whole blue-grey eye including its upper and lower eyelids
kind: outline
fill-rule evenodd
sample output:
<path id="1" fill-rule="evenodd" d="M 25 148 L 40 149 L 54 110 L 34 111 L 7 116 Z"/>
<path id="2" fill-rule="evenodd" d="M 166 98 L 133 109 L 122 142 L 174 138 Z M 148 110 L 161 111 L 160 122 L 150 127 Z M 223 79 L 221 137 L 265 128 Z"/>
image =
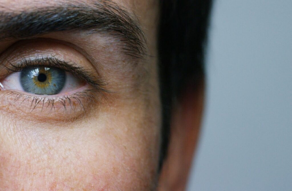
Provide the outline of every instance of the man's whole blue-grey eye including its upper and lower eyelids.
<path id="1" fill-rule="evenodd" d="M 0 60 L 1 107 L 8 112 L 70 119 L 88 112 L 107 92 L 90 62 L 63 44 L 20 43 Z"/>

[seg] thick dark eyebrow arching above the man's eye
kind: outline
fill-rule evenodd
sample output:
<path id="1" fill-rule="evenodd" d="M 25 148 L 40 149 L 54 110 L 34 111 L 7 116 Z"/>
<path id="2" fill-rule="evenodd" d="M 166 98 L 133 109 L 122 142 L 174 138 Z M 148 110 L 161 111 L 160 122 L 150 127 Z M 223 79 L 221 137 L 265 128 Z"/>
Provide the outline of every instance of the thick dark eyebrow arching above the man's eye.
<path id="1" fill-rule="evenodd" d="M 107 32 L 120 40 L 125 54 L 138 58 L 145 54 L 146 40 L 140 25 L 133 14 L 112 1 L 0 12 L 0 40 L 70 30 Z"/>

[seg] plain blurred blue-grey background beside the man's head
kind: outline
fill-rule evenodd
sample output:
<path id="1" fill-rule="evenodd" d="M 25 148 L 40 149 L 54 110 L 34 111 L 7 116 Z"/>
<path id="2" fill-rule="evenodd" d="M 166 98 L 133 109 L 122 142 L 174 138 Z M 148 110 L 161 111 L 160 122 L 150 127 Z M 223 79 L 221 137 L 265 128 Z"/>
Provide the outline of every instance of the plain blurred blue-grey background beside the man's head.
<path id="1" fill-rule="evenodd" d="M 189 191 L 292 190 L 292 1 L 217 0 Z"/>

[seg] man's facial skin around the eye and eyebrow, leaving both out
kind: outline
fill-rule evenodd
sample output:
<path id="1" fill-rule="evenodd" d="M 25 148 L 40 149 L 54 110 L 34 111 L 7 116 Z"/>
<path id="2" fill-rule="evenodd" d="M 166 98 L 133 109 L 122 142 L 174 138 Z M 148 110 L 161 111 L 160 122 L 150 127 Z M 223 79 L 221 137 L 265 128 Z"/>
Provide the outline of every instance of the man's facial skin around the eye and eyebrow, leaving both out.
<path id="1" fill-rule="evenodd" d="M 47 6 L 93 6 L 96 2 L 114 3 L 139 23 L 146 39 L 142 58 L 125 54 L 121 45 L 127 44 L 109 31 L 54 31 L 1 39 L 3 86 L 12 86 L 13 78 L 6 79 L 7 67 L 25 59 L 53 57 L 82 68 L 93 81 L 102 82 L 103 90 L 86 82 L 93 89 L 91 97 L 65 101 L 66 112 L 58 99 L 75 90 L 45 96 L 19 89 L 0 91 L 0 190 L 156 188 L 161 125 L 154 32 L 157 3 L 1 0 L 0 11 L 1 15 L 19 14 Z M 13 82 L 17 84 L 15 78 L 17 75 Z M 41 100 L 37 105 L 34 96 Z"/>

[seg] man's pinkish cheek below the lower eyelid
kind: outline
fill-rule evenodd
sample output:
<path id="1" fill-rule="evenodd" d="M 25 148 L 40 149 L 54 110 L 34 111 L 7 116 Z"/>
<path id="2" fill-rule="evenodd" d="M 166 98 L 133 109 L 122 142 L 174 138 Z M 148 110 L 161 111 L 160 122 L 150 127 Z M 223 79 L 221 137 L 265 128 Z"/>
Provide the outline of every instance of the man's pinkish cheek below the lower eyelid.
<path id="1" fill-rule="evenodd" d="M 149 190 L 157 174 L 159 115 L 133 104 L 62 127 L 0 114 L 0 190 Z"/>

